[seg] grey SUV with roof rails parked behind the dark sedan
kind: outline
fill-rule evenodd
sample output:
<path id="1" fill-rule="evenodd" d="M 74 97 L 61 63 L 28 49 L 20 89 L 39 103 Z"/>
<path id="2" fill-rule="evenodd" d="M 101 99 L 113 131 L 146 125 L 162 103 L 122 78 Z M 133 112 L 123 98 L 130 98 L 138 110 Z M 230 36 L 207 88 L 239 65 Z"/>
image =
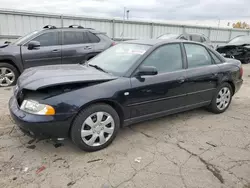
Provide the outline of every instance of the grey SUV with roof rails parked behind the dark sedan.
<path id="1" fill-rule="evenodd" d="M 81 63 L 113 44 L 105 33 L 91 28 L 45 26 L 13 43 L 0 45 L 0 87 L 14 85 L 24 69 Z"/>

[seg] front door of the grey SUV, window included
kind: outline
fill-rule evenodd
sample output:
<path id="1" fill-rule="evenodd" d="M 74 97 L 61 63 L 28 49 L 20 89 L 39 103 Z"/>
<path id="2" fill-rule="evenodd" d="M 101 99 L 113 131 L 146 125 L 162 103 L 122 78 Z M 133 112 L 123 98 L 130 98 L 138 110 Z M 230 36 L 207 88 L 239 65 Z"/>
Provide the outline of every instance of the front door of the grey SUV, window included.
<path id="1" fill-rule="evenodd" d="M 61 44 L 59 32 L 48 31 L 32 41 L 40 42 L 40 47 L 28 49 L 28 43 L 21 46 L 24 68 L 61 64 Z"/>

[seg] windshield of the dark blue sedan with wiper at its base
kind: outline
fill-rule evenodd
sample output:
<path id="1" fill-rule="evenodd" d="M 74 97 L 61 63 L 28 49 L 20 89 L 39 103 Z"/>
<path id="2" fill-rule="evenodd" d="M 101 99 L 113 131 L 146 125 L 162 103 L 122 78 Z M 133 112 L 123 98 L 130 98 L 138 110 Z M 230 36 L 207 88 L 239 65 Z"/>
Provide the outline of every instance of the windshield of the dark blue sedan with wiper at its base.
<path id="1" fill-rule="evenodd" d="M 113 75 L 123 76 L 149 48 L 148 45 L 117 44 L 91 59 L 88 64 L 99 66 Z"/>

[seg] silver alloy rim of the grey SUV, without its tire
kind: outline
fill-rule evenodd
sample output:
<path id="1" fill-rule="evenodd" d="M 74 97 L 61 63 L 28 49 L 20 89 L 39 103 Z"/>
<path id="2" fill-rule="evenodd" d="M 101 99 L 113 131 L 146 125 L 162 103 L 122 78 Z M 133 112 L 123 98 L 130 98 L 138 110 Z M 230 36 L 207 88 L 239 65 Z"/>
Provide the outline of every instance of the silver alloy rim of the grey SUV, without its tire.
<path id="1" fill-rule="evenodd" d="M 14 81 L 15 81 L 15 73 L 7 67 L 1 67 L 0 86 L 2 87 L 10 86 Z"/>

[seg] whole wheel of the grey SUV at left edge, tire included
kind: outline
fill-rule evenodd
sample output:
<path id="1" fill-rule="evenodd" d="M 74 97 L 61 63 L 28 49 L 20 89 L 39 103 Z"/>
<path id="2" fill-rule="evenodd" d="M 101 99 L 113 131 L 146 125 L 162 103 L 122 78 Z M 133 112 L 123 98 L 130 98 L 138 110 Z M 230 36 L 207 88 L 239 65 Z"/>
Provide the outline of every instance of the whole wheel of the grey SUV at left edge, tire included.
<path id="1" fill-rule="evenodd" d="M 19 73 L 17 69 L 8 63 L 0 63 L 0 87 L 8 87 L 16 84 Z"/>

